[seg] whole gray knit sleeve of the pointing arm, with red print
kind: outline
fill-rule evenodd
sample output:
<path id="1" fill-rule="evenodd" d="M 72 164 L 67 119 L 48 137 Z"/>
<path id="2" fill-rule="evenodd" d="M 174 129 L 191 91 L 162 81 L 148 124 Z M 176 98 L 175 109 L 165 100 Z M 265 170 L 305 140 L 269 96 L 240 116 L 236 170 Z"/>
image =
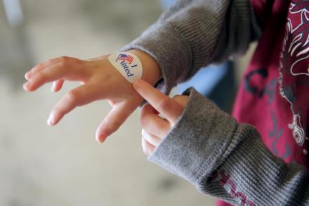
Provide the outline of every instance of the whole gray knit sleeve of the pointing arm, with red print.
<path id="1" fill-rule="evenodd" d="M 194 89 L 186 92 L 183 114 L 150 161 L 234 205 L 309 205 L 304 167 L 284 163 L 253 126 L 238 124 Z"/>

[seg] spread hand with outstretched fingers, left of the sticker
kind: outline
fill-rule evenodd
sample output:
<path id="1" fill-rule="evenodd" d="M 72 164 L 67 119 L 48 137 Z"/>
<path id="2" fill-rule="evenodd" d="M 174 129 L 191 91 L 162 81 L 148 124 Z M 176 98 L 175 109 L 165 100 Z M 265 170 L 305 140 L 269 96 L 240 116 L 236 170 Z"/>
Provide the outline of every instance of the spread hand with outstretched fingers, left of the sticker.
<path id="1" fill-rule="evenodd" d="M 149 62 L 149 61 L 148 61 Z M 47 82 L 53 82 L 52 91 L 59 91 L 64 80 L 81 82 L 65 95 L 52 109 L 47 123 L 57 124 L 62 117 L 76 106 L 95 100 L 109 100 L 113 106 L 96 132 L 96 139 L 102 142 L 114 133 L 126 118 L 141 104 L 142 98 L 113 65 L 107 56 L 91 60 L 60 57 L 43 62 L 27 73 L 26 91 L 35 91 Z"/>

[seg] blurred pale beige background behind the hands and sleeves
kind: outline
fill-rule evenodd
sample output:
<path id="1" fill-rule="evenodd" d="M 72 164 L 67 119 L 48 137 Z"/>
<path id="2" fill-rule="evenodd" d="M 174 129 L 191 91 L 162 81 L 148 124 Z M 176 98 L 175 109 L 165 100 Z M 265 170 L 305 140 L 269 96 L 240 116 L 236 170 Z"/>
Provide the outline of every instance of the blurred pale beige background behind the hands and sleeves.
<path id="1" fill-rule="evenodd" d="M 214 205 L 147 161 L 139 110 L 98 144 L 107 102 L 76 108 L 50 127 L 52 106 L 78 84 L 65 82 L 59 93 L 51 84 L 35 93 L 22 89 L 23 74 L 38 62 L 117 51 L 161 12 L 152 0 L 0 0 L 0 205 Z M 238 60 L 236 83 L 248 59 Z"/>

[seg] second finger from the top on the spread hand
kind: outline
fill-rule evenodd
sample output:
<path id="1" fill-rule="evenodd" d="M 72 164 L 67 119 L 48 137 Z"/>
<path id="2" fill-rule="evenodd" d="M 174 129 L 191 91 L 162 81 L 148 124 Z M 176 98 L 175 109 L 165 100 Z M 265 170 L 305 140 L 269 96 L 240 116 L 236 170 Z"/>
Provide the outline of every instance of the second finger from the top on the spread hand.
<path id="1" fill-rule="evenodd" d="M 80 69 L 79 65 L 74 65 L 71 62 L 58 62 L 51 67 L 47 67 L 36 73 L 23 87 L 27 91 L 34 91 L 47 82 L 53 82 L 65 78 L 67 80 L 84 80 L 88 78 L 86 69 Z"/>

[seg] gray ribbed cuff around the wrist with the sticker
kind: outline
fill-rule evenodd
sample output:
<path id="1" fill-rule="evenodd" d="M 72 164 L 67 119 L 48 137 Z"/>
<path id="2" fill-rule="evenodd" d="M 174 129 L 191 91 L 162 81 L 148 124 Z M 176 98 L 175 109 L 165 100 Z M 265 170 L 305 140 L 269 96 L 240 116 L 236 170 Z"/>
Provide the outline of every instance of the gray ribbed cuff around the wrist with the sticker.
<path id="1" fill-rule="evenodd" d="M 156 87 L 165 94 L 170 93 L 190 68 L 190 47 L 170 23 L 152 25 L 135 41 L 122 47 L 121 51 L 130 49 L 139 49 L 155 58 L 162 72 L 162 79 Z"/>

